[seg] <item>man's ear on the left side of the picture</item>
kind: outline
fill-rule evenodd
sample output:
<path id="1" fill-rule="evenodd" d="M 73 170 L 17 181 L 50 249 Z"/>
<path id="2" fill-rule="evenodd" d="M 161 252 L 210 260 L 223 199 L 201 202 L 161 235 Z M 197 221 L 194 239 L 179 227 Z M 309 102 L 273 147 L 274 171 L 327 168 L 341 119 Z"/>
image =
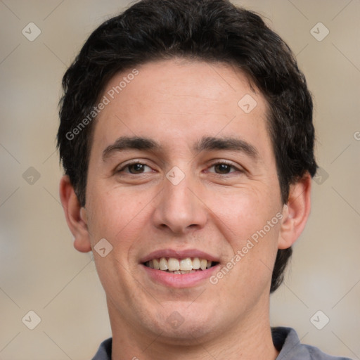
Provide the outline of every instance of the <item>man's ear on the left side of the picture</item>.
<path id="1" fill-rule="evenodd" d="M 86 210 L 77 199 L 69 176 L 60 180 L 60 200 L 63 204 L 65 218 L 72 235 L 75 237 L 74 247 L 80 252 L 91 251 L 89 230 L 87 227 Z"/>

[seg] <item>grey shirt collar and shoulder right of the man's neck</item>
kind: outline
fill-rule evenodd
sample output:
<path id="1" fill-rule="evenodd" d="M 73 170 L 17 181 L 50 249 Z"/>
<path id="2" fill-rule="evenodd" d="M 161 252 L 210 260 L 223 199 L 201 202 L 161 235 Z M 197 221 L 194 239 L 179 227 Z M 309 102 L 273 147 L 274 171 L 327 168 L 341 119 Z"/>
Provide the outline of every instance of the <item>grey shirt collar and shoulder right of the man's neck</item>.
<path id="1" fill-rule="evenodd" d="M 280 351 L 276 360 L 351 360 L 345 357 L 330 356 L 317 347 L 301 344 L 292 328 L 272 328 L 273 342 Z"/>

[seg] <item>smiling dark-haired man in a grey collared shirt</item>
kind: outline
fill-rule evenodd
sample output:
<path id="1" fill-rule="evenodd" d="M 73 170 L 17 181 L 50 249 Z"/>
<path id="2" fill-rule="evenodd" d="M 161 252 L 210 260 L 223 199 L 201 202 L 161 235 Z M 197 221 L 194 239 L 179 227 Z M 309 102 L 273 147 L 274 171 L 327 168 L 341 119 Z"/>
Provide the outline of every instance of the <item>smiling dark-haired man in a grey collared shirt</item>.
<path id="1" fill-rule="evenodd" d="M 63 88 L 60 198 L 113 332 L 94 359 L 335 359 L 269 325 L 316 161 L 304 76 L 258 15 L 139 1 Z"/>

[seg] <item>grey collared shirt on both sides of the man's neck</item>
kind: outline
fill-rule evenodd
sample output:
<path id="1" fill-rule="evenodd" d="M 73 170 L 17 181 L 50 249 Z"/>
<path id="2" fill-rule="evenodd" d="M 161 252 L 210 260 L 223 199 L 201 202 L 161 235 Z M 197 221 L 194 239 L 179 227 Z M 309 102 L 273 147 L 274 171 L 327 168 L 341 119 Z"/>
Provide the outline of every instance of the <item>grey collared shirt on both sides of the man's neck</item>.
<path id="1" fill-rule="evenodd" d="M 279 354 L 276 360 L 350 360 L 324 354 L 317 347 L 300 343 L 297 333 L 292 328 L 271 328 L 274 346 Z M 92 360 L 111 360 L 113 339 L 101 343 Z"/>

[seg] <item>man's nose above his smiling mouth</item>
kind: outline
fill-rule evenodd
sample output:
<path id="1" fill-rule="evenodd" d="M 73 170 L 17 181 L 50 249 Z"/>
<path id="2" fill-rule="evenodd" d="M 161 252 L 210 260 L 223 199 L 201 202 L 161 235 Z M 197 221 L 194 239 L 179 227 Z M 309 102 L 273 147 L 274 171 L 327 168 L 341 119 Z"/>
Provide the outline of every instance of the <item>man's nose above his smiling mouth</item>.
<path id="1" fill-rule="evenodd" d="M 178 234 L 202 229 L 207 221 L 207 207 L 201 198 L 199 187 L 191 184 L 188 176 L 176 185 L 165 178 L 153 213 L 155 226 Z"/>

